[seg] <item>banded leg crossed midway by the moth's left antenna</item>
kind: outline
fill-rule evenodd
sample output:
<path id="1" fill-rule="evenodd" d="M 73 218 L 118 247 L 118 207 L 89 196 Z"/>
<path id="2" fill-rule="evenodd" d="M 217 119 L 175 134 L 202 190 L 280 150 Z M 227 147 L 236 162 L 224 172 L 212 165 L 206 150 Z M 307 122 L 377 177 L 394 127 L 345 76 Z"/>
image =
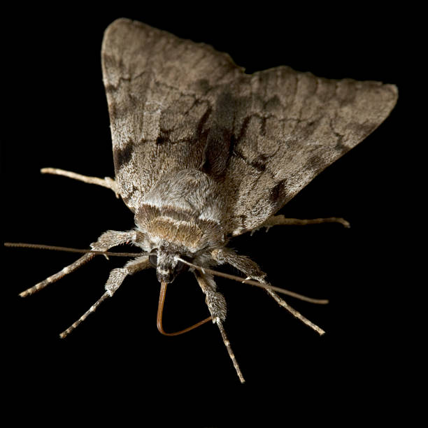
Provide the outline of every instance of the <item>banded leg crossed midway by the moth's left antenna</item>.
<path id="1" fill-rule="evenodd" d="M 98 238 L 98 240 L 92 243 L 90 246 L 92 250 L 107 251 L 110 248 L 115 247 L 116 245 L 133 241 L 134 238 L 135 231 L 108 230 L 104 232 L 104 234 L 102 234 Z M 93 252 L 87 252 L 85 255 L 77 259 L 76 262 L 69 264 L 69 266 L 64 267 L 64 269 L 41 281 L 41 283 L 38 283 L 33 287 L 29 288 L 28 290 L 25 290 L 20 293 L 20 297 L 27 297 L 29 294 L 38 292 L 38 290 L 41 290 L 42 288 L 46 287 L 46 285 L 55 283 L 55 281 L 61 279 L 63 276 L 66 276 L 68 273 L 76 271 L 76 269 L 80 268 L 80 266 L 89 262 L 94 257 L 95 254 Z"/>

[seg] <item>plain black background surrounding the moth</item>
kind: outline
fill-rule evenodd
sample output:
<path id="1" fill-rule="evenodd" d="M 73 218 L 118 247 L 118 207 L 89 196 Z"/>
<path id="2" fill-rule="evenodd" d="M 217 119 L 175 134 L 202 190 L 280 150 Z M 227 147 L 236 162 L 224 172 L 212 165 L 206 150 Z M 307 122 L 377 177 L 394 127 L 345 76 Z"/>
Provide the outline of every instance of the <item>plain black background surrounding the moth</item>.
<path id="1" fill-rule="evenodd" d="M 390 117 L 280 211 L 345 217 L 350 229 L 275 227 L 231 242 L 274 285 L 330 299 L 328 306 L 288 299 L 327 334 L 319 337 L 294 320 L 263 290 L 218 278 L 228 303 L 225 327 L 247 380 L 240 385 L 215 326 L 173 338 L 158 333 L 159 283 L 150 270 L 127 278 L 113 299 L 60 340 L 59 332 L 101 296 L 108 272 L 124 260 L 99 257 L 20 299 L 20 291 L 76 255 L 8 249 L 3 352 L 17 420 L 29 415 L 48 422 L 59 414 L 83 423 L 107 415 L 122 425 L 132 418 L 143 425 L 157 412 L 161 426 L 169 418 L 201 427 L 256 418 L 262 426 L 291 418 L 348 425 L 413 413 L 404 403 L 417 381 L 409 361 L 418 351 L 407 327 L 413 320 L 404 290 L 411 280 L 400 274 L 407 249 L 399 245 L 398 230 L 415 180 L 407 164 L 415 92 L 406 70 L 417 69 L 422 54 L 413 33 L 418 11 L 407 15 L 362 3 L 231 6 L 141 3 L 89 10 L 73 4 L 10 15 L 4 39 L 10 61 L 3 65 L 3 91 L 10 94 L 1 155 L 4 241 L 87 248 L 107 229 L 133 227 L 131 212 L 109 190 L 39 173 L 54 166 L 113 176 L 99 54 L 103 31 L 117 17 L 209 43 L 248 73 L 287 64 L 327 78 L 394 83 L 399 103 Z M 207 315 L 191 274 L 170 285 L 166 330 Z"/>

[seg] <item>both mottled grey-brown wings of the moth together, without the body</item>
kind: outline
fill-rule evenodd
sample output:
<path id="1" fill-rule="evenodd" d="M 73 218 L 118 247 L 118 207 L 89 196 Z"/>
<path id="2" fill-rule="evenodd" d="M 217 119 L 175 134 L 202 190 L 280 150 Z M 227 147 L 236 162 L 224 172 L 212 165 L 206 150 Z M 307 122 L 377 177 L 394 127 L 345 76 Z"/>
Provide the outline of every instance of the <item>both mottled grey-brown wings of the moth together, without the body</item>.
<path id="1" fill-rule="evenodd" d="M 254 229 L 368 136 L 397 87 L 286 66 L 245 75 L 226 54 L 130 20 L 110 24 L 104 84 L 131 210 L 166 172 L 201 169 L 227 196 L 229 235 Z"/>

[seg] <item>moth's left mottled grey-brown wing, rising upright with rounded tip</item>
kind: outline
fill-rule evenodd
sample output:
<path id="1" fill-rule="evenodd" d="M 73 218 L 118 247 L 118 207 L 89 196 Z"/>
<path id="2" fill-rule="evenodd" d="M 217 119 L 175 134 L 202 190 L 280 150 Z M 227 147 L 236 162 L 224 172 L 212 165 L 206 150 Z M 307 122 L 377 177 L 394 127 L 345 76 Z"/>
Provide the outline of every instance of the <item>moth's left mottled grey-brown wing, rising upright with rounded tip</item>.
<path id="1" fill-rule="evenodd" d="M 124 18 L 106 29 L 101 62 L 115 180 L 135 212 L 164 173 L 204 163 L 213 87 L 241 69 L 211 46 Z"/>

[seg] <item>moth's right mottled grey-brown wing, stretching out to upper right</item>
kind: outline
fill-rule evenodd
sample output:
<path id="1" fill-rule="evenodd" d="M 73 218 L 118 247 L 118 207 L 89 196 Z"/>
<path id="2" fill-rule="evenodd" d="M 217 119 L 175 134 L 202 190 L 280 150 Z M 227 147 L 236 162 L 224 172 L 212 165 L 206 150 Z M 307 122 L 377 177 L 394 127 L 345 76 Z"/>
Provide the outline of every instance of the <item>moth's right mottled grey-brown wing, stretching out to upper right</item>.
<path id="1" fill-rule="evenodd" d="M 397 87 L 328 80 L 287 66 L 239 83 L 224 172 L 228 233 L 254 229 L 390 114 Z"/>

